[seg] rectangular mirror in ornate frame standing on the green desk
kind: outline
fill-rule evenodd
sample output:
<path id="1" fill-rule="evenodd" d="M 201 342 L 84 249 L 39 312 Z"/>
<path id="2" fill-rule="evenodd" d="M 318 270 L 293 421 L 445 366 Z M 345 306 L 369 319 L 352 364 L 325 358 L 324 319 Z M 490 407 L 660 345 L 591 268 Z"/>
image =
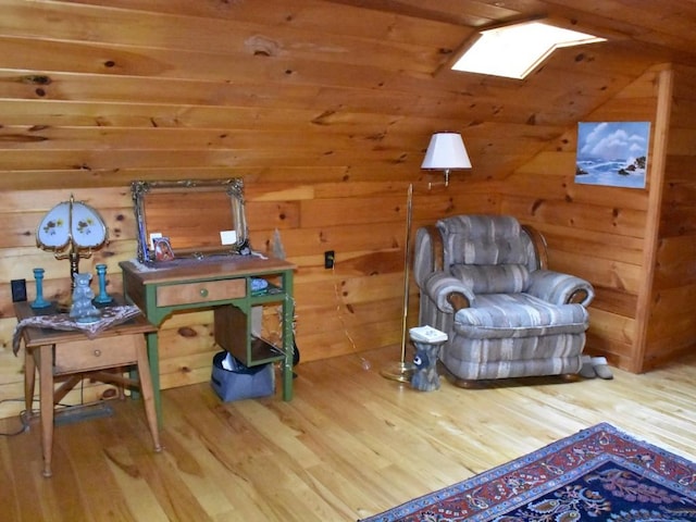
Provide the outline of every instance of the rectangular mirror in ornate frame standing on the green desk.
<path id="1" fill-rule="evenodd" d="M 130 189 L 140 262 L 249 253 L 241 178 L 136 181 Z"/>

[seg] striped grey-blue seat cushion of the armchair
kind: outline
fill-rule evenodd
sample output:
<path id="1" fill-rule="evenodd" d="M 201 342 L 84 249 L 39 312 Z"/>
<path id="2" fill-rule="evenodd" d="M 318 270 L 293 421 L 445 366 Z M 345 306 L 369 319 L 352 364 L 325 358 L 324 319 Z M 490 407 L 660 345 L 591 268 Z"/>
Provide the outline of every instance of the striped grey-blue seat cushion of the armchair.
<path id="1" fill-rule="evenodd" d="M 455 332 L 469 338 L 579 334 L 589 315 L 582 304 L 551 304 L 529 294 L 483 294 L 455 316 Z"/>

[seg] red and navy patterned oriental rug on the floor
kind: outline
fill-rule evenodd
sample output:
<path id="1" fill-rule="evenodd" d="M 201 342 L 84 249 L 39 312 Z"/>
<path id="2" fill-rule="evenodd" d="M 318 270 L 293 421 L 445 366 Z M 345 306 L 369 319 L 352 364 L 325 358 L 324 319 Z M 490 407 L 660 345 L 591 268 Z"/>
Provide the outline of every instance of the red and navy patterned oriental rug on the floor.
<path id="1" fill-rule="evenodd" d="M 597 424 L 362 522 L 693 522 L 696 464 Z"/>

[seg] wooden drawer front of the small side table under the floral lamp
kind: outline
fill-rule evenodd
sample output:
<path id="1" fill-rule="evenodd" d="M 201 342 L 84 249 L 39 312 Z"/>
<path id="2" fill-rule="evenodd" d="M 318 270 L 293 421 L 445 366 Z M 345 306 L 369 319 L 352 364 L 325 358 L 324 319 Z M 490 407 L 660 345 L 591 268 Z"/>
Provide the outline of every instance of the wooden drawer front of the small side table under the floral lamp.
<path id="1" fill-rule="evenodd" d="M 58 345 L 54 373 L 86 372 L 135 363 L 138 345 L 144 343 L 145 337 L 137 334 Z"/>

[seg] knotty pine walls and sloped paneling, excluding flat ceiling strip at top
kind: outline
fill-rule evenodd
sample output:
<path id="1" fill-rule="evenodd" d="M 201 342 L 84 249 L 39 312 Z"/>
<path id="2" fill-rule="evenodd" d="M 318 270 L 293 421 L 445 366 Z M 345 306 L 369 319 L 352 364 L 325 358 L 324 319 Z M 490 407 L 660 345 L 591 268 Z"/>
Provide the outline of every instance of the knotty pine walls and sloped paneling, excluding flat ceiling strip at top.
<path id="1" fill-rule="evenodd" d="M 97 208 L 111 240 L 80 270 L 107 263 L 119 291 L 117 263 L 136 251 L 133 179 L 245 179 L 252 247 L 277 234 L 298 265 L 306 361 L 400 344 L 409 184 L 413 227 L 504 212 L 544 232 L 551 268 L 597 288 L 588 352 L 643 372 L 694 347 L 692 69 L 617 42 L 561 51 L 522 85 L 465 77 L 444 64 L 470 29 L 320 0 L 2 9 L 0 399 L 23 397 L 9 282 L 27 279 L 33 298 L 42 266 L 48 297 L 70 290 L 67 261 L 36 248 L 39 220 L 71 194 Z M 575 185 L 576 123 L 617 120 L 652 123 L 648 187 Z M 474 169 L 428 189 L 440 177 L 420 163 L 438 130 L 462 133 Z M 162 325 L 164 388 L 210 378 L 211 322 Z"/>

